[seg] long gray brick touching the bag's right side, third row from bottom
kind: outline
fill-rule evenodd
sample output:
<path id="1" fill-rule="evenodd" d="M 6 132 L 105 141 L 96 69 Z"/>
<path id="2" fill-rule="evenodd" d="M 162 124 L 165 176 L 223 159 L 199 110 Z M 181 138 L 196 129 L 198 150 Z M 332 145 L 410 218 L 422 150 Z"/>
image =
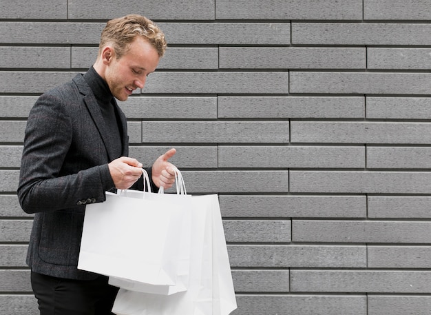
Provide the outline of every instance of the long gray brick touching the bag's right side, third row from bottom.
<path id="1" fill-rule="evenodd" d="M 364 268 L 364 245 L 228 245 L 231 267 Z"/>

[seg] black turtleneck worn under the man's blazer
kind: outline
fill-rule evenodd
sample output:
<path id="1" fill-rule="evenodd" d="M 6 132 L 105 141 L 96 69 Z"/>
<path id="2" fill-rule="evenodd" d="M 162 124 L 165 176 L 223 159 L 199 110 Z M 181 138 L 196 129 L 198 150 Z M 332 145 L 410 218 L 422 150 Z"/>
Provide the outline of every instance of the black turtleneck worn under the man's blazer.
<path id="1" fill-rule="evenodd" d="M 90 85 L 94 96 L 96 96 L 97 103 L 101 108 L 106 130 L 108 131 L 108 134 L 105 135 L 109 141 L 107 144 L 109 145 L 108 150 L 111 152 L 113 159 L 116 159 L 120 157 L 123 152 L 120 128 L 118 128 L 119 119 L 115 110 L 116 101 L 106 81 L 102 79 L 93 67 L 84 74 L 84 79 L 87 81 L 88 85 Z"/>

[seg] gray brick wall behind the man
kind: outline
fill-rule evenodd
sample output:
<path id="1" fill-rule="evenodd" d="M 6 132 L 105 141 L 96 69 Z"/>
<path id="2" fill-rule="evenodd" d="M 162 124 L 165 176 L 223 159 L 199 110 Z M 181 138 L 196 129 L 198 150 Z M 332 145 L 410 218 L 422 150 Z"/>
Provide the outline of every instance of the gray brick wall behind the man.
<path id="1" fill-rule="evenodd" d="M 129 13 L 169 42 L 120 104 L 131 155 L 174 146 L 188 192 L 219 194 L 233 314 L 431 314 L 429 0 L 0 7 L 1 314 L 37 314 L 16 195 L 28 112 Z"/>

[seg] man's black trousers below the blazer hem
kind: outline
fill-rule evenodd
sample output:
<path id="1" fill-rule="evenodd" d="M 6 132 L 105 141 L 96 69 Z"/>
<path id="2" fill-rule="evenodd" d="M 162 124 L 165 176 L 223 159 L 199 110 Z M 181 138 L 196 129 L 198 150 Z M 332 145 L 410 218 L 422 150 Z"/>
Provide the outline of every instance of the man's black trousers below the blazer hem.
<path id="1" fill-rule="evenodd" d="M 32 272 L 32 288 L 41 315 L 111 315 L 118 287 L 106 276 L 81 281 Z"/>

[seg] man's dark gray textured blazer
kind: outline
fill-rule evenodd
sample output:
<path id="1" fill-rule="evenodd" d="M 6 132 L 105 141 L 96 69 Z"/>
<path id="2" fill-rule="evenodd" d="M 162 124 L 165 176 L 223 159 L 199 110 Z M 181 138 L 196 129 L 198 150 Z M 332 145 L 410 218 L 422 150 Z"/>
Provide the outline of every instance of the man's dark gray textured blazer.
<path id="1" fill-rule="evenodd" d="M 126 118 L 118 105 L 116 111 L 122 155 L 127 156 Z M 85 204 L 105 201 L 105 191 L 114 188 L 107 163 L 118 156 L 109 152 L 107 132 L 109 126 L 82 74 L 34 104 L 25 130 L 18 187 L 21 207 L 35 213 L 27 257 L 34 272 L 95 278 L 76 266 Z M 135 189 L 142 190 L 140 182 Z"/>

